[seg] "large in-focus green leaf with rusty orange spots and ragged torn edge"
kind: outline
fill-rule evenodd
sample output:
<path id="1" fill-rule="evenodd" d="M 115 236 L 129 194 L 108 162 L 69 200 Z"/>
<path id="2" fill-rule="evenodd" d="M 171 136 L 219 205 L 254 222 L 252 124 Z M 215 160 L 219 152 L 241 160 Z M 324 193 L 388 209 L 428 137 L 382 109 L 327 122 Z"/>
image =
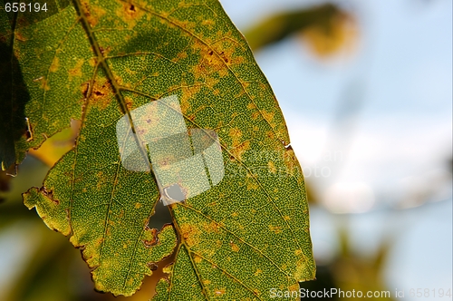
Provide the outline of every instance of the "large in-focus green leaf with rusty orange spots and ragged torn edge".
<path id="1" fill-rule="evenodd" d="M 0 14 L 0 24 L 24 20 L 0 35 L 14 41 L 30 95 L 16 161 L 82 120 L 74 149 L 24 202 L 82 248 L 98 290 L 133 294 L 177 235 L 157 299 L 265 300 L 313 279 L 302 170 L 265 76 L 217 1 L 57 1 L 41 20 Z M 158 231 L 147 226 L 155 177 L 121 164 L 116 123 L 170 95 L 188 128 L 217 132 L 225 177 L 170 205 L 174 228 Z"/>

